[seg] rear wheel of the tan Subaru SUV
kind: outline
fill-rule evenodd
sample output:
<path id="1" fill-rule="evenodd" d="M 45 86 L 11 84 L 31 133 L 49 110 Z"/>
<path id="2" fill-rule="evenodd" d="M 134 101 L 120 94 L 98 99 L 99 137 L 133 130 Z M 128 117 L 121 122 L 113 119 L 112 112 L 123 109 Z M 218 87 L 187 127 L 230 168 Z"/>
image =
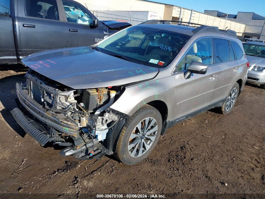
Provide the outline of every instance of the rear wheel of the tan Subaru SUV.
<path id="1" fill-rule="evenodd" d="M 236 103 L 236 99 L 238 97 L 239 94 L 239 84 L 236 82 L 231 90 L 229 91 L 229 94 L 226 98 L 225 103 L 223 104 L 223 106 L 221 106 L 221 113 L 222 114 L 228 114 L 231 112 L 232 108 L 234 107 L 235 103 Z"/>

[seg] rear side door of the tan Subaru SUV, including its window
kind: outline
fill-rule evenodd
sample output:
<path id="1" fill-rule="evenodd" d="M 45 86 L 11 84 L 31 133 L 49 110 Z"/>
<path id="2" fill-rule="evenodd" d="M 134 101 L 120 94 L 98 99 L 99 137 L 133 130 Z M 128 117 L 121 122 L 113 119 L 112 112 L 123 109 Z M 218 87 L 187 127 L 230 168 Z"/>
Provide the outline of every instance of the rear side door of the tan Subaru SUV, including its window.
<path id="1" fill-rule="evenodd" d="M 215 91 L 210 104 L 224 100 L 240 74 L 240 64 L 227 39 L 214 38 L 215 66 L 218 70 Z"/>

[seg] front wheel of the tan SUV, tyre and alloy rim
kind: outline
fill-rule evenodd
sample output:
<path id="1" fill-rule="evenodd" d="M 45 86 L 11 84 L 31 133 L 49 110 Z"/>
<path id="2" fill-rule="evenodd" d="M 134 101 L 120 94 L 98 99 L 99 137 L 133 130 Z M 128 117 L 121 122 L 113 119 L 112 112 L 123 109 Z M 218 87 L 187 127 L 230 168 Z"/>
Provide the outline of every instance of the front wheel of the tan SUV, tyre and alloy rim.
<path id="1" fill-rule="evenodd" d="M 145 159 L 156 146 L 162 130 L 159 111 L 144 105 L 127 121 L 117 143 L 116 156 L 125 164 L 136 164 Z"/>

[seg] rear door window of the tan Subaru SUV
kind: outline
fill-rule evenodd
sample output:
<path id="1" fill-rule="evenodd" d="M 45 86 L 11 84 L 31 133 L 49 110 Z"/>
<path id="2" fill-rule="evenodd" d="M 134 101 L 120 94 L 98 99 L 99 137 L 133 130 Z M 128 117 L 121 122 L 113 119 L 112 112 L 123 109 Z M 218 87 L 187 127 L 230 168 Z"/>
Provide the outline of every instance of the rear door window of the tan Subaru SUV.
<path id="1" fill-rule="evenodd" d="M 230 61 L 230 49 L 229 42 L 226 39 L 214 39 L 215 40 L 215 64 L 229 62 Z"/>

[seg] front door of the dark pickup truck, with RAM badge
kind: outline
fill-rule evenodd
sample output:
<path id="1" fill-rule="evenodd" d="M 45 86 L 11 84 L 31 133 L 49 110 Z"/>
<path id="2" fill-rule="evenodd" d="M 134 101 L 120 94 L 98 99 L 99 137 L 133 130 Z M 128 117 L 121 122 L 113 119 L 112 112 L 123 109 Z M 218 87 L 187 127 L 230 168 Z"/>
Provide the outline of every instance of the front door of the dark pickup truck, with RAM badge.
<path id="1" fill-rule="evenodd" d="M 79 3 L 61 1 L 66 26 L 66 47 L 91 46 L 104 39 L 108 30 L 95 27 L 94 16 Z"/>

